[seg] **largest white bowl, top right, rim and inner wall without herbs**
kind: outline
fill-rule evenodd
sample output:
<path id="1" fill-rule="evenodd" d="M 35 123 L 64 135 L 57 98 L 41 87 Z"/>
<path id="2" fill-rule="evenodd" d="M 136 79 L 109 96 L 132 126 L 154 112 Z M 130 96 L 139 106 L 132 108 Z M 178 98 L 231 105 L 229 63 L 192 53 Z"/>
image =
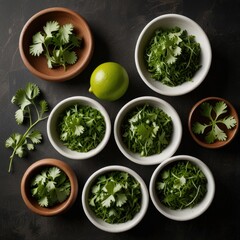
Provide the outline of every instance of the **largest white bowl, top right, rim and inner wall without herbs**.
<path id="1" fill-rule="evenodd" d="M 151 74 L 146 68 L 144 52 L 155 30 L 158 28 L 172 28 L 176 26 L 180 27 L 182 30 L 187 30 L 188 34 L 194 35 L 196 42 L 200 43 L 202 67 L 196 72 L 192 81 L 185 82 L 179 86 L 169 87 L 151 78 Z M 179 14 L 165 14 L 150 21 L 140 33 L 135 47 L 135 64 L 140 77 L 149 88 L 162 95 L 183 95 L 197 88 L 205 79 L 211 66 L 211 61 L 211 45 L 203 29 L 192 19 Z"/>

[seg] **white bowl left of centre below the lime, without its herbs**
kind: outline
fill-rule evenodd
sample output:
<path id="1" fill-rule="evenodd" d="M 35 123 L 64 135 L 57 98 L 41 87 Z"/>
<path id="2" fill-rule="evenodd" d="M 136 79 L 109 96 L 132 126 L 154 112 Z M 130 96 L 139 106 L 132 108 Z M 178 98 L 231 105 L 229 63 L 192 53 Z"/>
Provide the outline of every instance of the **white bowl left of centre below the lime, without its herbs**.
<path id="1" fill-rule="evenodd" d="M 59 115 L 69 106 L 72 106 L 74 104 L 80 104 L 83 106 L 90 106 L 92 108 L 95 108 L 100 111 L 102 116 L 104 117 L 105 124 L 106 124 L 106 131 L 105 136 L 101 143 L 95 148 L 88 152 L 77 152 L 72 151 L 61 142 L 59 134 L 57 132 L 57 121 L 59 118 Z M 111 121 L 109 118 L 109 115 L 105 108 L 98 103 L 97 101 L 88 98 L 88 97 L 81 97 L 81 96 L 74 96 L 69 97 L 61 102 L 59 102 L 51 111 L 48 122 L 47 122 L 47 135 L 49 138 L 50 143 L 52 146 L 63 156 L 75 159 L 75 160 L 83 160 L 87 158 L 91 158 L 101 152 L 103 148 L 106 146 L 111 134 Z"/>

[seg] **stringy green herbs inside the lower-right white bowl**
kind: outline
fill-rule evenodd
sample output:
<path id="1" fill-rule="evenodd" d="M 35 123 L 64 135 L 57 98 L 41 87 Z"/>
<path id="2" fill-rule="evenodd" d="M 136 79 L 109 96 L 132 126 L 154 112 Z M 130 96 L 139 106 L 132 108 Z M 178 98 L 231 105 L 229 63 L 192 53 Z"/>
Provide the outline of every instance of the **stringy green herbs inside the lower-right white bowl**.
<path id="1" fill-rule="evenodd" d="M 162 204 L 171 209 L 194 207 L 207 192 L 203 172 L 189 161 L 178 161 L 159 174 L 156 190 Z"/>

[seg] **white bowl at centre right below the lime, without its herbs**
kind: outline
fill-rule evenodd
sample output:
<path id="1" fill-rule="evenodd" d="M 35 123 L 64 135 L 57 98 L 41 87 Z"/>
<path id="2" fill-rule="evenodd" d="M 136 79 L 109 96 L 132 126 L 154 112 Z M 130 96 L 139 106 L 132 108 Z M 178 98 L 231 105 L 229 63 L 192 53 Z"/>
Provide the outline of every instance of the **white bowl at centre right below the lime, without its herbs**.
<path id="1" fill-rule="evenodd" d="M 130 151 L 123 143 L 121 136 L 121 124 L 129 111 L 136 106 L 146 103 L 155 107 L 159 107 L 172 118 L 173 133 L 169 145 L 160 154 L 142 157 L 140 154 Z M 164 159 L 171 157 L 176 152 L 182 139 L 182 124 L 178 113 L 169 103 L 157 97 L 143 96 L 131 100 L 120 109 L 114 122 L 114 137 L 118 148 L 126 158 L 137 164 L 154 165 L 159 164 Z"/>

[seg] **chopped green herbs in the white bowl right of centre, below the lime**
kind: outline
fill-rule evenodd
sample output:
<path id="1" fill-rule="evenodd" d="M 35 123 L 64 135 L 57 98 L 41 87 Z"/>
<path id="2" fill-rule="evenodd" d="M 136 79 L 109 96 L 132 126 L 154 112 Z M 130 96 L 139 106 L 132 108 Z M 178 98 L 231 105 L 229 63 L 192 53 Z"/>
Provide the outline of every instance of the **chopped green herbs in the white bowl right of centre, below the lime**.
<path id="1" fill-rule="evenodd" d="M 170 143 L 173 131 L 171 117 L 148 104 L 131 110 L 121 128 L 123 142 L 141 156 L 161 153 Z"/>

